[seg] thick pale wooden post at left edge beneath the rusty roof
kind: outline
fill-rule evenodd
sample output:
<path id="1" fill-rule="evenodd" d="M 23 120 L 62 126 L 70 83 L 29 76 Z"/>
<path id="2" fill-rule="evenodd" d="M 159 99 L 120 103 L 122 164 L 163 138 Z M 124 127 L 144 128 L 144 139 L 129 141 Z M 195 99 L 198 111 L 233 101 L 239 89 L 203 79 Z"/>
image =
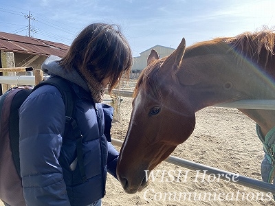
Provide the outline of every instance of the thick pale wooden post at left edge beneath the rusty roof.
<path id="1" fill-rule="evenodd" d="M 13 52 L 1 52 L 1 66 L 2 68 L 10 68 L 10 67 L 15 67 L 15 62 L 14 62 L 14 54 Z M 15 72 L 3 72 L 2 76 L 16 76 Z M 8 88 L 8 84 L 1 84 L 1 89 L 2 93 L 5 93 Z"/>

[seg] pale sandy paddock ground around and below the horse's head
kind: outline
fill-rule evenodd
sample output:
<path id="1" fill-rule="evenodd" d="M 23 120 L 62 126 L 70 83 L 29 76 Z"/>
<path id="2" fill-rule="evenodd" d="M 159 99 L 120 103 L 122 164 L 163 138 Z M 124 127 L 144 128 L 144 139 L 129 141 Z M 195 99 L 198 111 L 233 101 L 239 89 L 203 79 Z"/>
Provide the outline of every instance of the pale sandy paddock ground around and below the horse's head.
<path id="1" fill-rule="evenodd" d="M 131 98 L 123 98 L 120 122 L 113 123 L 111 130 L 113 138 L 124 139 L 130 115 Z M 194 132 L 184 144 L 177 146 L 173 156 L 261 180 L 263 147 L 251 119 L 234 108 L 218 107 L 204 108 L 196 117 Z M 162 181 L 157 176 L 142 192 L 131 195 L 108 175 L 107 194 L 102 205 L 275 205 L 269 194 L 225 180 L 218 181 L 208 175 L 202 182 L 203 174 L 197 175 L 177 165 L 162 162 L 157 170 L 175 171 L 175 180 Z M 176 181 L 179 171 L 187 175 Z M 169 198 L 168 194 L 173 195 Z"/>

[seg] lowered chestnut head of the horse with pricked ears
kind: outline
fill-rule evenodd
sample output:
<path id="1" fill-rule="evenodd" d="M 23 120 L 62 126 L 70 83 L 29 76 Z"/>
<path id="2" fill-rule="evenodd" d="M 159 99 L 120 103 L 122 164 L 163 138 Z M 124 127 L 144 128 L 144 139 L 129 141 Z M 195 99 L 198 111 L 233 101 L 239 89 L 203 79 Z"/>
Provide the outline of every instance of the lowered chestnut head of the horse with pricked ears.
<path id="1" fill-rule="evenodd" d="M 144 189 L 148 184 L 145 170 L 153 170 L 195 128 L 195 111 L 185 100 L 176 75 L 185 48 L 183 38 L 175 52 L 166 58 L 159 59 L 152 50 L 137 81 L 117 168 L 118 179 L 129 194 Z"/>

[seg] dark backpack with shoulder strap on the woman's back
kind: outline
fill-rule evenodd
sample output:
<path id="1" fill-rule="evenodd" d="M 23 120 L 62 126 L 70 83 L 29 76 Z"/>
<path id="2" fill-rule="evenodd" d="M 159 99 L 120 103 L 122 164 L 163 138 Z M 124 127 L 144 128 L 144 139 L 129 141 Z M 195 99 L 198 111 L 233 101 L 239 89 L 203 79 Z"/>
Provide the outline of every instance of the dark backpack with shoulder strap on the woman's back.
<path id="1" fill-rule="evenodd" d="M 32 91 L 45 84 L 50 84 L 61 92 L 65 104 L 65 133 L 66 130 L 73 130 L 81 178 L 86 181 L 82 159 L 82 135 L 74 120 L 74 92 L 69 82 L 53 76 L 33 89 L 14 87 L 0 96 L 0 199 L 9 205 L 25 205 L 19 162 L 19 107 Z"/>

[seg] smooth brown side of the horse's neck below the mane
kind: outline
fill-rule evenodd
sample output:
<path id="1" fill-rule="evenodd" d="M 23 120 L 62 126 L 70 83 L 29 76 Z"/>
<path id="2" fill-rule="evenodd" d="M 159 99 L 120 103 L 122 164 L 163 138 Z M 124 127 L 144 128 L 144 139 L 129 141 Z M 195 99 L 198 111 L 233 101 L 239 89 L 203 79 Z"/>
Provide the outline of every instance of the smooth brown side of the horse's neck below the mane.
<path id="1" fill-rule="evenodd" d="M 245 99 L 275 99 L 274 77 L 230 55 L 187 58 L 179 68 L 181 91 L 195 111 Z"/>

